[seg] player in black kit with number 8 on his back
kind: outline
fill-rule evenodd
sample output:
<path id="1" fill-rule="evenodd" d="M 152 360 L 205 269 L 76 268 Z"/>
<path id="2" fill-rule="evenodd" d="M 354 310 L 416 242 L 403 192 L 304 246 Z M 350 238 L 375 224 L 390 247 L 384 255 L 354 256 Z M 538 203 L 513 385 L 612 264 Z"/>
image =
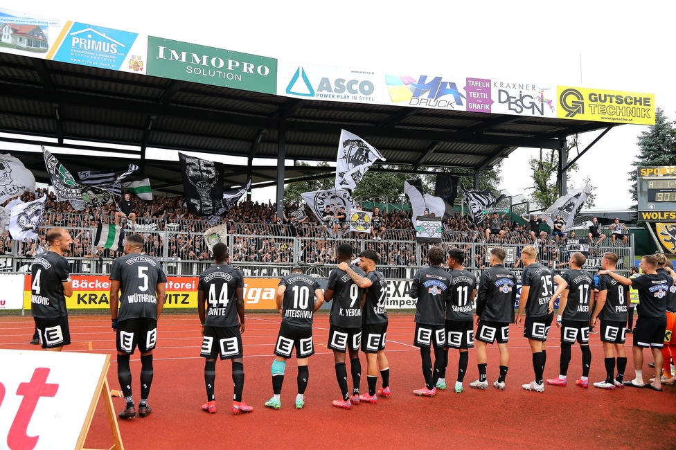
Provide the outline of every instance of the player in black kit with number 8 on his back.
<path id="1" fill-rule="evenodd" d="M 617 255 L 607 252 L 601 260 L 601 269 L 614 271 Z M 627 307 L 629 305 L 629 289 L 614 280 L 610 275 L 598 278 L 598 302 L 591 315 L 590 325 L 596 325 L 596 318 L 601 318 L 601 342 L 605 359 L 605 381 L 594 383 L 601 389 L 615 390 L 624 387 L 624 370 L 627 367 L 627 352 L 624 342 L 627 334 Z M 614 378 L 615 358 L 613 348 L 617 352 L 617 377 Z"/>

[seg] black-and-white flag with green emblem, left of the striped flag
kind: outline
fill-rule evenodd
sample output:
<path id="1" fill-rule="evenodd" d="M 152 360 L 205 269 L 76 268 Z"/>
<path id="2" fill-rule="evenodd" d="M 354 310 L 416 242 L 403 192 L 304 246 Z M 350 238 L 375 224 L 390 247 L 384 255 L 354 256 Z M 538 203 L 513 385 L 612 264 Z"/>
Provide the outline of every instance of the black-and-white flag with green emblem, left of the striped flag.
<path id="1" fill-rule="evenodd" d="M 68 171 L 53 154 L 42 147 L 44 165 L 52 181 L 54 192 L 59 201 L 69 201 L 75 210 L 93 208 L 106 205 L 113 201 L 111 192 L 98 186 L 82 186 L 75 181 Z"/>

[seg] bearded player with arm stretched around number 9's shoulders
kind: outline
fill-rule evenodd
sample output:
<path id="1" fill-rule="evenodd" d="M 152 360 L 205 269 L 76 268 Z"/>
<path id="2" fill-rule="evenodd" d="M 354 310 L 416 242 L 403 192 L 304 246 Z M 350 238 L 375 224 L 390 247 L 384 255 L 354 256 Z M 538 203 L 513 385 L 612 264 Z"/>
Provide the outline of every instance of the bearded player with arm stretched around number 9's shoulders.
<path id="1" fill-rule="evenodd" d="M 375 386 L 378 379 L 378 370 L 382 377 L 382 387 L 378 395 L 389 397 L 390 368 L 385 356 L 385 334 L 387 332 L 387 281 L 382 273 L 375 270 L 378 253 L 374 250 L 364 250 L 359 254 L 359 268 L 366 272 L 359 275 L 346 262 L 341 262 L 338 268 L 346 271 L 350 278 L 364 289 L 362 295 L 362 352 L 366 354 L 366 381 L 368 381 L 368 395 L 359 395 L 359 402 L 375 403 Z M 358 402 L 357 402 L 358 404 Z"/>

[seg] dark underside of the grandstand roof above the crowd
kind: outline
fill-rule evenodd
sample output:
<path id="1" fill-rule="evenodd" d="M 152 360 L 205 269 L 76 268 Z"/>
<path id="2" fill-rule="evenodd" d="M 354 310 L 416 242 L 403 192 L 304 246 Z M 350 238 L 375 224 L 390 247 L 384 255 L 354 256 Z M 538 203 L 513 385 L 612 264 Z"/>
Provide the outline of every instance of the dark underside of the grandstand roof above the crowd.
<path id="1" fill-rule="evenodd" d="M 122 172 L 141 158 L 153 189 L 168 193 L 183 192 L 179 163 L 144 159 L 150 147 L 277 161 L 283 140 L 287 160 L 335 161 L 340 131 L 347 129 L 377 147 L 386 164 L 405 165 L 413 174 L 425 166 L 478 171 L 492 167 L 517 147 L 560 149 L 571 134 L 614 126 L 301 100 L 10 53 L 0 53 L 0 111 L 0 132 L 43 139 L 56 148 L 57 158 L 71 172 Z M 0 141 L 37 181 L 48 182 L 42 154 L 11 150 L 12 143 L 35 143 L 34 138 L 0 136 Z M 120 150 L 89 143 L 132 147 Z M 109 157 L 71 150 L 98 150 Z M 378 165 L 372 170 L 378 170 Z M 249 172 L 254 187 L 276 184 L 274 165 L 250 169 L 226 163 L 226 188 L 241 186 Z M 326 169 L 287 167 L 284 173 L 287 180 L 312 178 Z"/>

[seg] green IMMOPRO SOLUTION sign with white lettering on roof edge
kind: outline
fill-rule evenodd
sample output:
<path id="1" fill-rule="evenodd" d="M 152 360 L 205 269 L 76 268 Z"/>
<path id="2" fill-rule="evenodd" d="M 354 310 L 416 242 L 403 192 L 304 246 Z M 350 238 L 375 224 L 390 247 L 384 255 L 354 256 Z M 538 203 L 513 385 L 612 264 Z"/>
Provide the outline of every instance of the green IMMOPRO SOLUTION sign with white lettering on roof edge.
<path id="1" fill-rule="evenodd" d="M 148 75 L 276 93 L 277 60 L 222 48 L 148 37 Z"/>

